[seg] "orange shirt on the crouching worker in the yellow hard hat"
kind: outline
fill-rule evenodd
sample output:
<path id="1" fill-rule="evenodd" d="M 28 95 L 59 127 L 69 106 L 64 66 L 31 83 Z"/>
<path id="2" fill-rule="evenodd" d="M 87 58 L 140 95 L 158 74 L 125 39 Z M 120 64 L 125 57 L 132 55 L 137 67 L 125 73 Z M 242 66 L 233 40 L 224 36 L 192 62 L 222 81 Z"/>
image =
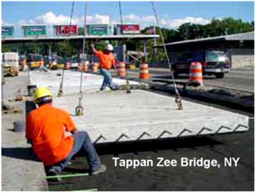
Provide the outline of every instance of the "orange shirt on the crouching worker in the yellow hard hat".
<path id="1" fill-rule="evenodd" d="M 33 149 L 46 165 L 61 161 L 70 153 L 73 138 L 65 131 L 74 129 L 74 122 L 66 111 L 44 104 L 29 113 L 26 119 L 26 138 L 31 139 Z"/>

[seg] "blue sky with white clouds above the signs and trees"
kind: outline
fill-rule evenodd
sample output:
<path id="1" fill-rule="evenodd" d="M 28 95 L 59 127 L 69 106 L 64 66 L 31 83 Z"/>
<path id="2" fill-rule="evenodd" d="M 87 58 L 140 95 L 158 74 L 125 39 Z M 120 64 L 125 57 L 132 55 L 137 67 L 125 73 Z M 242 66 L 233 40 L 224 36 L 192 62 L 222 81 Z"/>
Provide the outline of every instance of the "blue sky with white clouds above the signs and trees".
<path id="1" fill-rule="evenodd" d="M 141 28 L 155 25 L 156 18 L 150 1 L 122 1 L 122 15 L 126 24 L 140 24 Z M 177 29 L 191 22 L 208 24 L 212 18 L 233 17 L 252 22 L 253 1 L 157 1 L 157 16 L 162 27 Z M 20 36 L 24 24 L 45 24 L 52 31 L 53 24 L 69 24 L 72 1 L 2 1 L 2 25 L 15 25 Z M 76 1 L 72 24 L 83 26 L 85 2 Z M 87 24 L 120 23 L 118 1 L 89 1 Z"/>

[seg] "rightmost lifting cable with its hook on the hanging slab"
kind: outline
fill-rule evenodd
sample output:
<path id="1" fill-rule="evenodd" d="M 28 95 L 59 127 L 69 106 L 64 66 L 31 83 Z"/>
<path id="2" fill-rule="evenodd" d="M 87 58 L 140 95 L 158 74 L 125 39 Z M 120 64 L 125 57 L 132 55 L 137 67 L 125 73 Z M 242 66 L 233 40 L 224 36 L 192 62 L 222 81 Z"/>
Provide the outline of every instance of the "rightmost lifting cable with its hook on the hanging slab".
<path id="1" fill-rule="evenodd" d="M 169 65 L 169 69 L 171 71 L 171 76 L 172 76 L 172 80 L 173 80 L 173 85 L 174 85 L 174 89 L 175 89 L 175 94 L 176 94 L 176 97 L 175 97 L 175 103 L 177 103 L 177 106 L 178 106 L 178 109 L 179 110 L 182 110 L 182 101 L 181 101 L 181 97 L 180 97 L 180 94 L 179 94 L 179 91 L 177 89 L 177 85 L 175 83 L 175 80 L 174 80 L 174 77 L 173 77 L 173 71 L 172 71 L 172 66 L 170 64 L 170 59 L 169 59 L 169 55 L 168 55 L 168 52 L 166 50 L 166 45 L 164 43 L 164 37 L 163 37 L 163 33 L 161 31 L 161 25 L 159 23 L 159 20 L 158 20 L 158 17 L 157 17 L 157 13 L 156 13 L 156 8 L 155 8 L 155 5 L 154 5 L 154 2 L 151 1 L 152 3 L 152 8 L 153 8 L 153 11 L 154 11 L 154 15 L 156 17 L 156 22 L 157 22 L 157 25 L 158 25 L 158 28 L 159 28 L 159 33 L 160 33 L 160 36 L 161 36 L 161 40 L 162 40 L 162 43 L 163 43 L 163 47 L 164 47 L 164 54 L 166 55 L 166 59 L 167 59 L 167 62 L 168 62 L 168 65 Z"/>

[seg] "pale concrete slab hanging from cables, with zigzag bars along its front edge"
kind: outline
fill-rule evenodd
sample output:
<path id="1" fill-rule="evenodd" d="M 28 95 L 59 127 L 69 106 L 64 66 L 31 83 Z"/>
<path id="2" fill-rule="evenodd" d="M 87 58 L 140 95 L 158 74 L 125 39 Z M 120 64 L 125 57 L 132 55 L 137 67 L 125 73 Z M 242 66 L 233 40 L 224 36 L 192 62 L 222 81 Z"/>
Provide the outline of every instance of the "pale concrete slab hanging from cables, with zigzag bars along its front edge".
<path id="1" fill-rule="evenodd" d="M 54 106 L 67 110 L 76 126 L 87 131 L 95 143 L 178 138 L 248 130 L 248 117 L 211 106 L 182 101 L 177 110 L 173 97 L 145 90 L 83 96 L 84 115 L 75 115 L 78 96 L 54 99 Z"/>

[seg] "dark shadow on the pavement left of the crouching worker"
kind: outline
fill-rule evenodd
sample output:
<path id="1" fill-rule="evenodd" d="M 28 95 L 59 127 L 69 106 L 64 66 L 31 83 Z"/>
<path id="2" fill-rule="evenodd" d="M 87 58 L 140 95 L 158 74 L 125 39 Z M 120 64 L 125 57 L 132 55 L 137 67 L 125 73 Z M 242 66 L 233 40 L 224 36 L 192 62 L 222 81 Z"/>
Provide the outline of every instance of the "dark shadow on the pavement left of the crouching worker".
<path id="1" fill-rule="evenodd" d="M 2 147 L 2 156 L 12 157 L 15 159 L 23 159 L 29 161 L 40 162 L 34 154 L 32 148 L 24 147 Z"/>

